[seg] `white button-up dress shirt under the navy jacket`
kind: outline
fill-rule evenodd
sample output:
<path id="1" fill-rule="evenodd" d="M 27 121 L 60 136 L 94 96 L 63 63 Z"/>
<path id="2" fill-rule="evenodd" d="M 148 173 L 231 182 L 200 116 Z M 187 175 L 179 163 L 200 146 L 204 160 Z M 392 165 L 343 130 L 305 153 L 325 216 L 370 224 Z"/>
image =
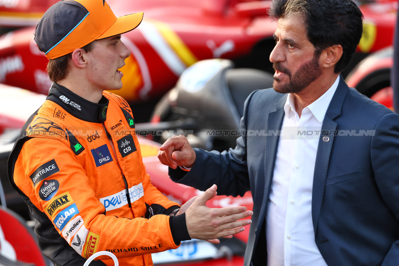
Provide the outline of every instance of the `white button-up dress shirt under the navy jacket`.
<path id="1" fill-rule="evenodd" d="M 312 186 L 320 131 L 339 79 L 300 117 L 288 94 L 266 218 L 268 266 L 327 266 L 314 241 Z"/>

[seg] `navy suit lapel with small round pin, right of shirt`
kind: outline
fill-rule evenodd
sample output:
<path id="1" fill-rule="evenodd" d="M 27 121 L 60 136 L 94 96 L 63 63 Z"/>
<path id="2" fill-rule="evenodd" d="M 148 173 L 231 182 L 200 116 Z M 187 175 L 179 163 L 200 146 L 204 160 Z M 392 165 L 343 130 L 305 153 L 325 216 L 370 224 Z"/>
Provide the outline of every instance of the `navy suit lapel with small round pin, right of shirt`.
<path id="1" fill-rule="evenodd" d="M 337 123 L 334 122 L 334 119 L 341 114 L 342 104 L 344 103 L 344 99 L 347 93 L 348 85 L 346 85 L 344 78 L 342 78 L 342 76 L 340 75 L 338 88 L 334 93 L 334 96 L 332 97 L 326 115 L 324 117 L 322 125 L 322 135 L 319 139 L 319 145 L 316 154 L 316 163 L 314 166 L 312 190 L 312 221 L 315 233 L 324 195 L 324 187 L 326 184 L 328 161 L 330 160 L 330 153 L 332 145 L 334 143 L 334 132 L 337 128 Z"/>

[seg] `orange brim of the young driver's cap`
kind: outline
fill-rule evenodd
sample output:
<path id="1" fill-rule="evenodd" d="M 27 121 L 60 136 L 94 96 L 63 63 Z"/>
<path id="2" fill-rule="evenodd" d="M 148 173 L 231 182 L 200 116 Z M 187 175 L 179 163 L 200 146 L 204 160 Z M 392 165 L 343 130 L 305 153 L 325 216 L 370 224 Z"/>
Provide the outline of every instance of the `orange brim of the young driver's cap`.
<path id="1" fill-rule="evenodd" d="M 115 23 L 101 34 L 97 40 L 113 37 L 135 29 L 143 20 L 143 15 L 144 12 L 139 12 L 117 18 Z"/>

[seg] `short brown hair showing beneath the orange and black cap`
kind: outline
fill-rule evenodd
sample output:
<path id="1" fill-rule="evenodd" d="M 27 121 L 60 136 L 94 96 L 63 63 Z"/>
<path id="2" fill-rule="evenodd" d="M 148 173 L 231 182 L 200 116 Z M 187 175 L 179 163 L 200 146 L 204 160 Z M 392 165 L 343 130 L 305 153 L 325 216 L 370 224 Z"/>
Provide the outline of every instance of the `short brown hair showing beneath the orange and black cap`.
<path id="1" fill-rule="evenodd" d="M 82 49 L 85 50 L 86 53 L 91 52 L 94 48 L 94 42 L 95 41 L 92 41 L 91 43 L 83 46 Z M 49 74 L 49 78 L 52 82 L 58 82 L 67 76 L 70 59 L 72 59 L 72 53 L 55 59 L 49 59 L 46 71 Z"/>

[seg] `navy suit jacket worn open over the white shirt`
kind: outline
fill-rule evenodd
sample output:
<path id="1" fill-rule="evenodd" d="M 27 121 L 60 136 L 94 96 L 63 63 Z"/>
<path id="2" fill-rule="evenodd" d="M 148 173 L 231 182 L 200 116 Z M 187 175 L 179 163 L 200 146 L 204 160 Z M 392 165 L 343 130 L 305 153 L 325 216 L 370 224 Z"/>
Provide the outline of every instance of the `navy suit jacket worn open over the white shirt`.
<path id="1" fill-rule="evenodd" d="M 240 125 L 249 131 L 237 139 L 235 149 L 222 153 L 195 149 L 197 158 L 190 172 L 170 168 L 172 180 L 200 190 L 212 184 L 217 184 L 219 195 L 242 196 L 251 190 L 253 216 L 244 266 L 259 258 L 267 261 L 265 240 L 259 241 L 259 236 L 265 238 L 286 98 L 287 94 L 273 89 L 253 92 Z M 323 137 L 328 138 L 323 141 Z M 397 266 L 398 218 L 399 115 L 348 88 L 341 76 L 324 117 L 316 155 L 315 242 L 329 266 Z"/>

